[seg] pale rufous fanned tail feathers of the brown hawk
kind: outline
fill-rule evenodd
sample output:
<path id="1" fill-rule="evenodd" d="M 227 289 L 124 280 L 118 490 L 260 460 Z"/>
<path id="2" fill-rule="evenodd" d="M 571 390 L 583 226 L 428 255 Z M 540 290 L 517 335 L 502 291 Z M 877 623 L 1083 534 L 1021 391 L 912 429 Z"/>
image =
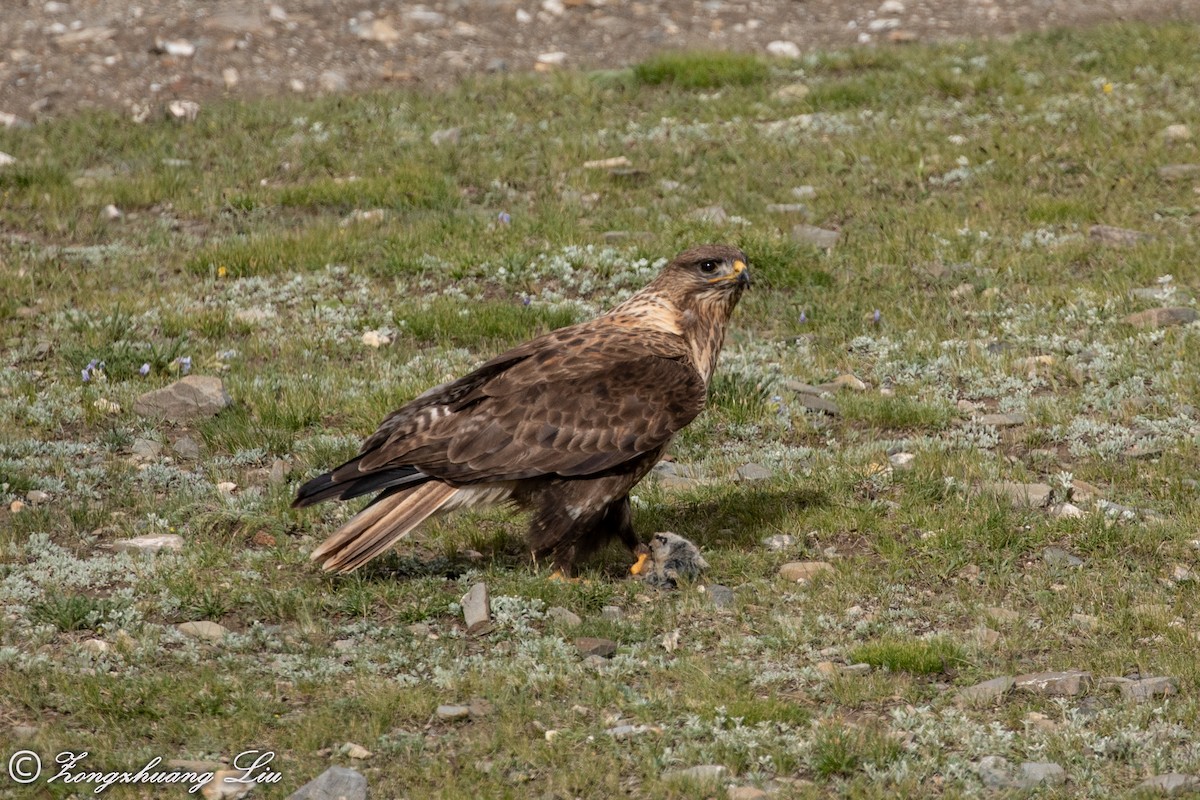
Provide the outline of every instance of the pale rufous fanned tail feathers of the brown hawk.
<path id="1" fill-rule="evenodd" d="M 322 569 L 329 572 L 353 572 L 386 553 L 461 491 L 431 481 L 395 494 L 383 494 L 326 539 L 310 558 L 322 561 Z"/>

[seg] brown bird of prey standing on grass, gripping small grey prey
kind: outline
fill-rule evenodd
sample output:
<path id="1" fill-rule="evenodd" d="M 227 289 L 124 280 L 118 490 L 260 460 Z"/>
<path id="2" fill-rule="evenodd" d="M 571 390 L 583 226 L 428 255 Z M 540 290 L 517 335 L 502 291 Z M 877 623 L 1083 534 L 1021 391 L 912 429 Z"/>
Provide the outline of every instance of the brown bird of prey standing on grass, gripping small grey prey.
<path id="1" fill-rule="evenodd" d="M 433 515 L 497 503 L 533 512 L 529 548 L 564 577 L 612 537 L 644 552 L 629 491 L 704 408 L 749 285 L 740 249 L 684 251 L 607 313 L 409 401 L 358 456 L 300 487 L 294 507 L 379 493 L 312 559 L 352 572 Z"/>

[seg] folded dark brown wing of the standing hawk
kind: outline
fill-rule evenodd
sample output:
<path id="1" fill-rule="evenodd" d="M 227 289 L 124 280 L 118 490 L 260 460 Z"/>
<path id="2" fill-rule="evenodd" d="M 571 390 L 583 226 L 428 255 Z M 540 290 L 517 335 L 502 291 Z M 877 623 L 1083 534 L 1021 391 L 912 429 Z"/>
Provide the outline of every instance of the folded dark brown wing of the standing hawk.
<path id="1" fill-rule="evenodd" d="M 409 467 L 474 483 L 612 469 L 664 445 L 704 407 L 704 380 L 672 338 L 611 331 L 532 342 L 385 421 L 355 471 Z"/>

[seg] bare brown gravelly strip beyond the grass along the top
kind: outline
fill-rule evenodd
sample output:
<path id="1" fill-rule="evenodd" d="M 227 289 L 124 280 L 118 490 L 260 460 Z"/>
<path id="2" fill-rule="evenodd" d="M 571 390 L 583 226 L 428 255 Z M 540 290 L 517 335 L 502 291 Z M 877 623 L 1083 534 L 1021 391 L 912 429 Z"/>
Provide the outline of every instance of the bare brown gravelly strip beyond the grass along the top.
<path id="1" fill-rule="evenodd" d="M 1192 0 L 28 0 L 0 14 L 0 120 L 227 95 L 443 86 L 476 72 L 619 67 L 662 49 L 798 55 L 1126 19 Z M 182 113 L 186 113 L 186 106 Z"/>

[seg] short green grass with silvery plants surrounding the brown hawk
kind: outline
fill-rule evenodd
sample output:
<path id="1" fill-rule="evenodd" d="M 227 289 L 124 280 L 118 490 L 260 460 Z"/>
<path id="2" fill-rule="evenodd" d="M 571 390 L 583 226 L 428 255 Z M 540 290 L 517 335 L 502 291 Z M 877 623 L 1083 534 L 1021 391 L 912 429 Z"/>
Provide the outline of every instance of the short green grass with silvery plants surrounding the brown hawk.
<path id="1" fill-rule="evenodd" d="M 1200 572 L 1200 338 L 1122 321 L 1156 305 L 1135 289 L 1200 294 L 1195 181 L 1157 172 L 1200 162 L 1162 133 L 1200 128 L 1198 53 L 1195 28 L 1130 24 L 0 130 L 18 160 L 0 169 L 0 741 L 32 728 L 22 747 L 97 769 L 271 750 L 268 800 L 334 764 L 372 796 L 444 798 L 707 796 L 662 777 L 702 764 L 781 796 L 983 796 L 984 756 L 1060 763 L 1055 796 L 1200 772 L 1198 583 L 1178 578 Z M 448 127 L 458 143 L 434 145 Z M 619 155 L 632 173 L 583 167 Z M 727 224 L 692 215 L 712 205 Z M 841 239 L 820 251 L 798 222 Z M 1097 223 L 1154 237 L 1110 247 Z M 350 577 L 314 570 L 362 501 L 296 511 L 296 485 L 406 399 L 706 240 L 745 248 L 755 284 L 673 445 L 690 480 L 648 479 L 635 523 L 697 542 L 728 607 L 630 582 L 617 547 L 550 582 L 504 510 Z M 138 416 L 185 359 L 234 405 Z M 786 387 L 845 374 L 866 389 L 834 392 L 836 415 Z M 994 413 L 1025 422 L 977 419 Z M 140 439 L 162 452 L 136 457 Z M 772 477 L 737 480 L 750 462 Z M 977 488 L 1067 480 L 1081 518 Z M 182 552 L 113 548 L 167 533 Z M 776 577 L 812 560 L 836 569 Z M 476 582 L 496 619 L 470 638 Z M 175 627 L 197 620 L 229 633 Z M 580 636 L 616 657 L 586 663 Z M 872 669 L 829 679 L 827 661 Z M 1068 668 L 1180 693 L 955 703 Z"/>

